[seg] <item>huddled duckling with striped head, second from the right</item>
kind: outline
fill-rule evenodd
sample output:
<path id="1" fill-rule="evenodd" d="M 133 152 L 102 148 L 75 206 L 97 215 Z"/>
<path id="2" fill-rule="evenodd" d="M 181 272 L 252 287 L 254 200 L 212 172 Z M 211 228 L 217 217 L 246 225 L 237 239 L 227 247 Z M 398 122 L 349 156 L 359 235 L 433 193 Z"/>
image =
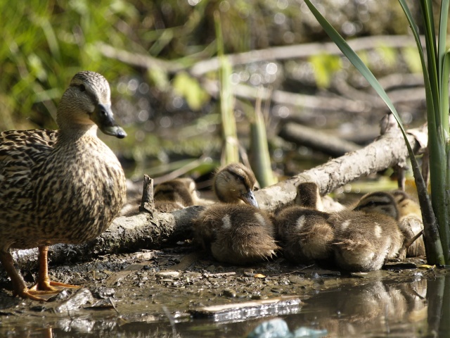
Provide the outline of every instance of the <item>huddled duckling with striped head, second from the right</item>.
<path id="1" fill-rule="evenodd" d="M 331 214 L 336 263 L 350 271 L 379 270 L 401 249 L 398 218 L 397 204 L 387 192 L 366 194 L 353 210 Z"/>

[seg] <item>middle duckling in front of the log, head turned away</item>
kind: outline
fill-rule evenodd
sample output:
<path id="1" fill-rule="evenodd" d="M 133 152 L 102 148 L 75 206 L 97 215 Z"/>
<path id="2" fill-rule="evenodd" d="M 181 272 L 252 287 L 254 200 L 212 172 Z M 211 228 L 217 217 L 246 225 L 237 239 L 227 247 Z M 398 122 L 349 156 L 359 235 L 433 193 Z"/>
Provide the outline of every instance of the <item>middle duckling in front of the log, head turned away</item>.
<path id="1" fill-rule="evenodd" d="M 333 253 L 333 226 L 324 213 L 319 187 L 304 182 L 297 187 L 296 206 L 276 215 L 278 237 L 285 258 L 295 263 L 311 263 L 330 258 Z"/>

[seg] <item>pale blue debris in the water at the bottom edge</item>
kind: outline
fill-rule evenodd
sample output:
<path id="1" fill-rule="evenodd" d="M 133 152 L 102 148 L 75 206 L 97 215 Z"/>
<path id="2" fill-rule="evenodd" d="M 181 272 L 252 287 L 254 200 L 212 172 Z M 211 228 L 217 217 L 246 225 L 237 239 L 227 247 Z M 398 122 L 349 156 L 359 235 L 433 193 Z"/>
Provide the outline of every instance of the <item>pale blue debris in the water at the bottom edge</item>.
<path id="1" fill-rule="evenodd" d="M 327 333 L 327 330 L 313 330 L 308 327 L 299 327 L 290 332 L 288 324 L 283 319 L 276 318 L 259 324 L 247 338 L 320 338 Z"/>

